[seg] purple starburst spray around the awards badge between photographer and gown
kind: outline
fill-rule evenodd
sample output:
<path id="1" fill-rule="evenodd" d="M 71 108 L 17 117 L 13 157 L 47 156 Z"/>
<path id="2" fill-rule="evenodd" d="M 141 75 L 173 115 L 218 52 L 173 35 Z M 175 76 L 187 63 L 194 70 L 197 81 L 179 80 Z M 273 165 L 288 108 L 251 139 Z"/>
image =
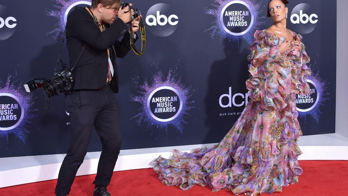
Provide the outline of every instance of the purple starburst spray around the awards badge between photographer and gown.
<path id="1" fill-rule="evenodd" d="M 179 130 L 180 133 L 183 133 L 183 126 L 187 124 L 187 117 L 189 116 L 188 112 L 194 108 L 193 104 L 195 101 L 191 100 L 192 92 L 194 90 L 191 90 L 191 87 L 183 85 L 180 78 L 176 78 L 178 77 L 173 70 L 169 70 L 167 77 L 165 77 L 163 73 L 158 70 L 156 71 L 156 74 L 153 75 L 151 84 L 145 80 L 144 84 L 138 86 L 140 90 L 137 93 L 139 95 L 131 96 L 130 98 L 132 101 L 136 101 L 141 104 L 139 114 L 132 117 L 132 119 L 137 119 L 136 122 L 139 126 L 145 125 L 146 127 L 151 128 L 151 130 L 163 128 L 167 134 L 168 126 L 171 125 Z M 174 88 L 179 92 L 182 98 L 182 109 L 180 114 L 175 119 L 168 122 L 160 122 L 152 118 L 147 106 L 148 98 L 151 92 L 161 86 L 169 86 Z"/>

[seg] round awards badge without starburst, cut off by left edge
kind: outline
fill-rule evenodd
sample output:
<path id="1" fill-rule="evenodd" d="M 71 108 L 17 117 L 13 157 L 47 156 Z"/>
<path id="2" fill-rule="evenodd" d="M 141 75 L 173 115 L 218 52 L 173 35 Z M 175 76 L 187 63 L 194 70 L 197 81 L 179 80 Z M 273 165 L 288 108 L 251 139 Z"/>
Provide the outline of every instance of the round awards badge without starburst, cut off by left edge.
<path id="1" fill-rule="evenodd" d="M 22 101 L 10 93 L 0 93 L 0 130 L 16 128 L 21 124 L 23 117 Z"/>

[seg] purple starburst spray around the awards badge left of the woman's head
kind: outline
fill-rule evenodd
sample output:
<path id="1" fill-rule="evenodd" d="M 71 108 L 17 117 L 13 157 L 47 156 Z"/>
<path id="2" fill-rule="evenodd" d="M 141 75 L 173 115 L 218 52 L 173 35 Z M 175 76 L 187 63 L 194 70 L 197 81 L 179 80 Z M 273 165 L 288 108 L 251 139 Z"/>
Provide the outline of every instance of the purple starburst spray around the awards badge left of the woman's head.
<path id="1" fill-rule="evenodd" d="M 221 15 L 223 7 L 231 1 L 232 0 L 212 0 L 212 3 L 211 3 L 212 8 L 206 8 L 205 14 L 214 16 L 215 20 L 212 23 L 212 27 L 206 29 L 205 32 L 210 32 L 210 36 L 212 39 L 220 39 L 220 41 L 224 39 L 228 39 L 230 41 L 238 42 L 238 43 L 240 39 L 244 39 L 249 44 L 252 44 L 254 42 L 254 32 L 256 31 L 256 28 L 260 27 L 260 25 L 264 24 L 265 22 L 265 20 L 263 20 L 265 16 L 261 16 L 261 11 L 264 11 L 265 5 L 261 5 L 262 2 L 253 2 L 251 0 L 240 0 L 247 3 L 250 6 L 251 12 L 254 15 L 254 22 L 248 32 L 240 36 L 234 36 L 226 32 L 223 29 L 223 26 L 222 26 L 223 24 L 221 24 L 220 22 L 220 15 Z"/>

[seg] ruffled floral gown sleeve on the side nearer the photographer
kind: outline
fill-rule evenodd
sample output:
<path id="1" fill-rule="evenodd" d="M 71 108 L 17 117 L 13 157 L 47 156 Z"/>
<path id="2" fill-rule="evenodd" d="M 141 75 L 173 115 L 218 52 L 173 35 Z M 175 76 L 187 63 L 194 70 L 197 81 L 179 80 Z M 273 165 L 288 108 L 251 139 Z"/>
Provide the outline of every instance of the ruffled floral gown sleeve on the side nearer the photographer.
<path id="1" fill-rule="evenodd" d="M 286 102 L 279 95 L 278 81 L 275 77 L 277 63 L 283 56 L 278 50 L 279 39 L 267 36 L 262 31 L 255 32 L 255 42 L 250 46 L 248 55 L 250 78 L 246 81 L 248 95 L 254 101 L 260 101 L 264 110 L 286 107 Z M 271 40 L 270 40 L 271 39 Z"/>

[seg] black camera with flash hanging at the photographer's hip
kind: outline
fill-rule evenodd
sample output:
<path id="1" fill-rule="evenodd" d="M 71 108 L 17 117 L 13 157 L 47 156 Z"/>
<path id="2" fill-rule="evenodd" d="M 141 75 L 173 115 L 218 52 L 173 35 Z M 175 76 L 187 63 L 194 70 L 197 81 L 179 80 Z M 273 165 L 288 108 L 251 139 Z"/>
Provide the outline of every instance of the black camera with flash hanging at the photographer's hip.
<path id="1" fill-rule="evenodd" d="M 72 91 L 74 78 L 71 70 L 66 64 L 62 64 L 62 69 L 55 70 L 52 79 L 32 78 L 24 84 L 26 92 L 32 92 L 37 88 L 44 88 L 47 97 L 59 95 L 60 93 L 70 94 Z"/>

